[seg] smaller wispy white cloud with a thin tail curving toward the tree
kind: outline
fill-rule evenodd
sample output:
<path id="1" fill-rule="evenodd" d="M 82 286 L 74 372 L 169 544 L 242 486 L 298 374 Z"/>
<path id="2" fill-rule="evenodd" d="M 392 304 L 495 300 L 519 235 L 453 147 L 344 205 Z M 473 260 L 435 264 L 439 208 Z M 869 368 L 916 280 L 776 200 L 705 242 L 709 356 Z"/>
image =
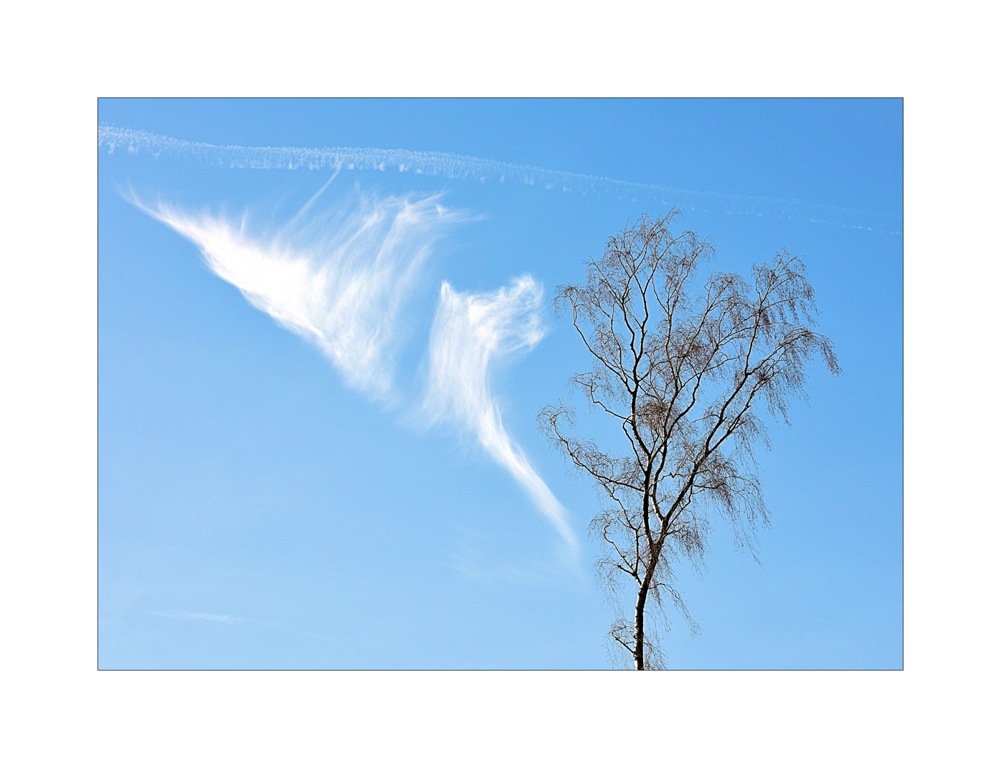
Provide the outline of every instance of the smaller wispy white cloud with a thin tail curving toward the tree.
<path id="1" fill-rule="evenodd" d="M 532 349 L 542 340 L 542 287 L 528 275 L 490 293 L 460 293 L 443 282 L 431 326 L 422 410 L 430 423 L 450 421 L 471 430 L 576 550 L 567 510 L 508 434 L 489 388 L 491 360 Z"/>

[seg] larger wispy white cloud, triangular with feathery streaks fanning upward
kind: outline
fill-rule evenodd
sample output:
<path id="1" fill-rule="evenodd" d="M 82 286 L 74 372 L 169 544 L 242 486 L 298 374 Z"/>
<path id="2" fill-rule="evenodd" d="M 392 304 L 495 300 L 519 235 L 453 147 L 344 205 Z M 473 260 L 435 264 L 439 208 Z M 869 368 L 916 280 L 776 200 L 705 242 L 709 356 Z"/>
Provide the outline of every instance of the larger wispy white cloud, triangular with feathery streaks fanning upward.
<path id="1" fill-rule="evenodd" d="M 399 311 L 434 239 L 460 214 L 433 196 L 359 197 L 318 215 L 314 201 L 287 225 L 254 234 L 247 216 L 232 221 L 133 197 L 197 245 L 250 304 L 314 342 L 348 385 L 388 399 Z"/>

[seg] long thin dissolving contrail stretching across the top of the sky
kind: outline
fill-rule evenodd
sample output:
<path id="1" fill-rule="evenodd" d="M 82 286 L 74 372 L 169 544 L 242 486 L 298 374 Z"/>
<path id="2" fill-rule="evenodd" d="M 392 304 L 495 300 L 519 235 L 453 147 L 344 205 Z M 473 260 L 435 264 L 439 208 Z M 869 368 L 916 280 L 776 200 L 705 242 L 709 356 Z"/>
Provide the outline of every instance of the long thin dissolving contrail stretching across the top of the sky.
<path id="1" fill-rule="evenodd" d="M 447 179 L 516 182 L 577 194 L 611 195 L 662 205 L 681 203 L 689 208 L 745 216 L 776 216 L 800 219 L 852 229 L 875 230 L 884 234 L 902 234 L 903 222 L 893 217 L 809 203 L 752 195 L 724 195 L 678 187 L 642 184 L 568 173 L 531 165 L 517 165 L 486 160 L 471 155 L 448 152 L 414 152 L 406 149 L 358 147 L 243 147 L 236 144 L 206 144 L 131 128 L 98 126 L 97 146 L 109 153 L 119 149 L 129 154 L 140 152 L 153 157 L 184 157 L 224 168 L 261 170 L 330 169 L 398 171 Z"/>

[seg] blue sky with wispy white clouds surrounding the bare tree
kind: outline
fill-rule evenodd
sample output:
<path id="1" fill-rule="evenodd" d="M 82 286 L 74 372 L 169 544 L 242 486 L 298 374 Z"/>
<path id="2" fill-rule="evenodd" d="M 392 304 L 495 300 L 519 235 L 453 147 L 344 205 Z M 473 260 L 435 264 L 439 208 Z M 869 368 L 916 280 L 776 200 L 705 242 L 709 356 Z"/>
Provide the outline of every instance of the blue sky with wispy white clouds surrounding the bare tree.
<path id="1" fill-rule="evenodd" d="M 721 523 L 682 571 L 703 634 L 675 621 L 669 664 L 899 668 L 902 120 L 896 100 L 102 100 L 101 667 L 609 666 L 599 500 L 535 427 L 588 365 L 550 300 L 677 203 L 718 269 L 804 256 L 844 373 L 818 366 L 759 456 L 760 564 Z"/>

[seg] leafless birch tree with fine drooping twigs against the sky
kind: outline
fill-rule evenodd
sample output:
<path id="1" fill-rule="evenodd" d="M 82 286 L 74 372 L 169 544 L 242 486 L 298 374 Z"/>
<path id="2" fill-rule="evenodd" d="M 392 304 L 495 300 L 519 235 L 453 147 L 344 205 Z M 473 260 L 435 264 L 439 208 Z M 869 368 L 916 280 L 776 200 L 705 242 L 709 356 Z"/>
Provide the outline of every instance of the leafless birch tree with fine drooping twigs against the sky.
<path id="1" fill-rule="evenodd" d="M 714 272 L 700 286 L 713 246 L 691 231 L 672 235 L 679 216 L 627 224 L 587 262 L 587 284 L 557 289 L 558 316 L 570 310 L 594 358 L 571 386 L 621 426 L 622 455 L 573 437 L 574 411 L 562 402 L 539 414 L 543 431 L 611 500 L 591 530 L 617 610 L 610 650 L 636 669 L 665 666 L 666 600 L 697 631 L 674 567 L 702 566 L 711 514 L 755 552 L 756 531 L 768 524 L 754 456 L 769 445 L 759 411 L 788 423 L 788 400 L 806 396 L 817 353 L 840 373 L 830 340 L 812 330 L 814 292 L 798 257 L 783 250 L 755 265 L 751 284 Z M 632 615 L 621 608 L 624 584 L 636 590 Z"/>

